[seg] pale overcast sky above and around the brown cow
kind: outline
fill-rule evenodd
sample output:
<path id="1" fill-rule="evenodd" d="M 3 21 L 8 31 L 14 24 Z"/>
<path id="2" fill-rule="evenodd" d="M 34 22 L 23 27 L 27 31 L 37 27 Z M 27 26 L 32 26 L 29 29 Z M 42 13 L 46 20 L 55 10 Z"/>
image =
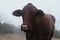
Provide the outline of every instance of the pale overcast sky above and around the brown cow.
<path id="1" fill-rule="evenodd" d="M 0 0 L 0 15 L 2 22 L 9 22 L 19 26 L 22 24 L 21 17 L 15 17 L 12 12 L 22 9 L 26 4 L 32 3 L 38 9 L 42 9 L 45 13 L 52 14 L 56 17 L 56 29 L 60 29 L 60 0 Z"/>

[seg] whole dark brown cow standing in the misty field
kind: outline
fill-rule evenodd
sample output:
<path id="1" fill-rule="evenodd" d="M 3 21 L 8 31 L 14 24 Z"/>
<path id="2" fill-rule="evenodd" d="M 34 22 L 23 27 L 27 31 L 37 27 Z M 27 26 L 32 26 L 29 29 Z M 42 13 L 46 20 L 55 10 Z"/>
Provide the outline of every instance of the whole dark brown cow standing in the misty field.
<path id="1" fill-rule="evenodd" d="M 23 10 L 15 10 L 14 16 L 21 16 L 21 30 L 26 32 L 26 40 L 51 40 L 55 29 L 55 17 L 38 10 L 31 3 Z"/>

